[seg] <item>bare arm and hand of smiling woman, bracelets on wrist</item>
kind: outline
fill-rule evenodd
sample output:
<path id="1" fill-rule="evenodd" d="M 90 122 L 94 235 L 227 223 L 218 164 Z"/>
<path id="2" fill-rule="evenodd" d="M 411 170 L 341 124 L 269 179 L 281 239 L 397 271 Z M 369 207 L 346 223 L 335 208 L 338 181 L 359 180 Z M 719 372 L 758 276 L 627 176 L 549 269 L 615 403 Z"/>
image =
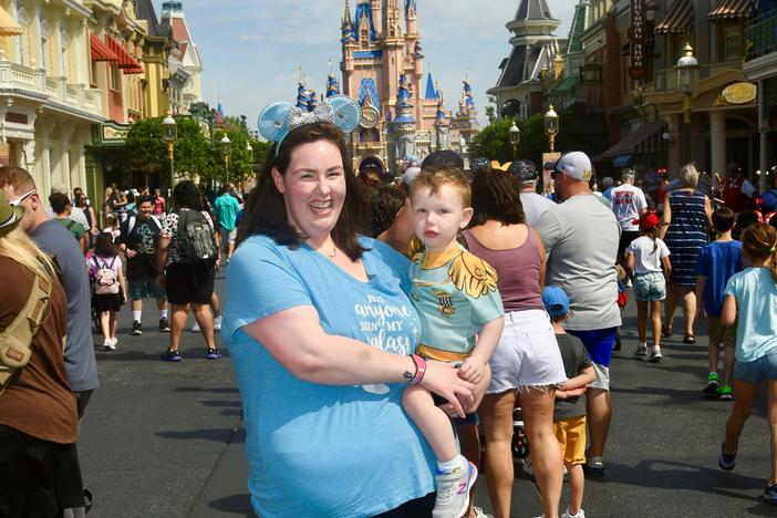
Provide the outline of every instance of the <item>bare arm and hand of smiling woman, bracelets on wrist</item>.
<path id="1" fill-rule="evenodd" d="M 406 383 L 415 373 L 410 356 L 374 349 L 358 340 L 327 334 L 311 305 L 289 308 L 242 328 L 261 342 L 281 365 L 300 380 L 324 385 Z M 428 361 L 421 386 L 441 395 L 464 417 L 464 406 L 474 404 L 474 385 L 457 370 Z"/>

